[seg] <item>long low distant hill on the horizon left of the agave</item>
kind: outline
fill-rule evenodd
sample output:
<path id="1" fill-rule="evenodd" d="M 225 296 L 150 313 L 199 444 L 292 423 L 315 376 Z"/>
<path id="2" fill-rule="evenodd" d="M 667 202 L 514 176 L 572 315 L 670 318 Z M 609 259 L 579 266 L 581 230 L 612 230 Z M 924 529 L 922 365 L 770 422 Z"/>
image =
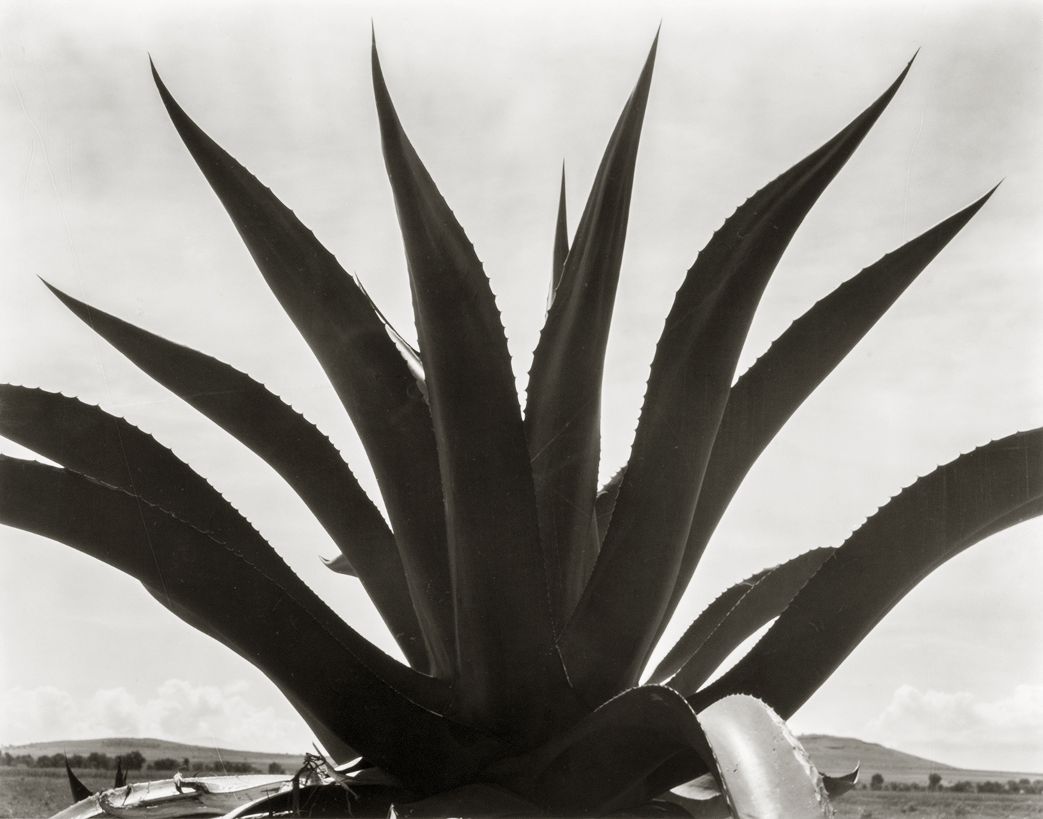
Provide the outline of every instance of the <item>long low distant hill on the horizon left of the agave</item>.
<path id="1" fill-rule="evenodd" d="M 64 740 L 60 742 L 38 742 L 29 745 L 4 745 L 0 746 L 0 752 L 6 751 L 13 756 L 28 753 L 32 756 L 50 756 L 55 753 L 74 753 L 87 756 L 93 751 L 104 753 L 108 756 L 119 756 L 130 751 L 141 751 L 149 762 L 153 760 L 173 758 L 184 760 L 188 757 L 192 767 L 212 765 L 223 760 L 224 762 L 250 763 L 260 770 L 267 770 L 270 763 L 278 763 L 286 770 L 295 770 L 300 767 L 305 755 L 302 753 L 268 753 L 265 751 L 237 751 L 231 748 L 216 748 L 203 745 L 185 745 L 179 742 L 168 742 L 167 740 L 149 740 L 135 737 L 115 737 L 102 740 Z"/>

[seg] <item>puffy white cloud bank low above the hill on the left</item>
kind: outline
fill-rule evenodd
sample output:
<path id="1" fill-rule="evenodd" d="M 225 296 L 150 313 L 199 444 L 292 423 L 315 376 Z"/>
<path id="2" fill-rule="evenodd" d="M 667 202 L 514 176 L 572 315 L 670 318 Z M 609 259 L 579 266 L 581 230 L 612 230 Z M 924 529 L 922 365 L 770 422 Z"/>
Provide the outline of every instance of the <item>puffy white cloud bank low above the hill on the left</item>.
<path id="1" fill-rule="evenodd" d="M 0 697 L 0 742 L 21 745 L 98 737 L 149 737 L 193 745 L 262 751 L 307 749 L 313 737 L 287 708 L 250 701 L 249 684 L 222 688 L 164 682 L 140 702 L 126 689 L 104 689 L 75 698 L 53 685 L 11 689 Z"/>

